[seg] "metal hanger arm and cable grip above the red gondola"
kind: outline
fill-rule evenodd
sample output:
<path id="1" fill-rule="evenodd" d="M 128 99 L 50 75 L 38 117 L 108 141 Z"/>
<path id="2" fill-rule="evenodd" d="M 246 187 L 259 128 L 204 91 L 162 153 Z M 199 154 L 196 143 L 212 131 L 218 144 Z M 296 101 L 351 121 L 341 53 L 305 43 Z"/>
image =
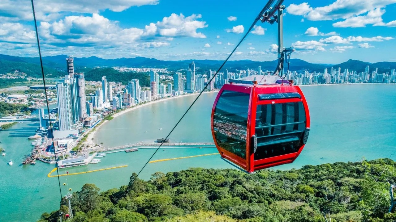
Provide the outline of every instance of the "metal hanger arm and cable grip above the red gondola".
<path id="1" fill-rule="evenodd" d="M 260 17 L 260 21 L 263 23 L 278 23 L 278 65 L 276 66 L 274 73 L 280 75 L 280 77 L 283 75 L 284 62 L 290 64 L 290 54 L 295 51 L 293 47 L 283 47 L 283 9 L 286 8 L 286 6 L 282 5 L 283 1 L 284 0 L 269 0 L 266 8 L 264 9 L 263 15 Z"/>

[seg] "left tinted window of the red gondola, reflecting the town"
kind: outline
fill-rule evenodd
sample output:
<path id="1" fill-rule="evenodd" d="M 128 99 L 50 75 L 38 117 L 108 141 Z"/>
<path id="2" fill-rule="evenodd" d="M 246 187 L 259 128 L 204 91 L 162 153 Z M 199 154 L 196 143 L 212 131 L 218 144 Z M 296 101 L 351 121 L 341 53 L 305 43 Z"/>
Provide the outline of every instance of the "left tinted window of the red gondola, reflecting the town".
<path id="1" fill-rule="evenodd" d="M 246 158 L 248 109 L 249 94 L 224 90 L 213 115 L 217 144 L 242 158 Z"/>

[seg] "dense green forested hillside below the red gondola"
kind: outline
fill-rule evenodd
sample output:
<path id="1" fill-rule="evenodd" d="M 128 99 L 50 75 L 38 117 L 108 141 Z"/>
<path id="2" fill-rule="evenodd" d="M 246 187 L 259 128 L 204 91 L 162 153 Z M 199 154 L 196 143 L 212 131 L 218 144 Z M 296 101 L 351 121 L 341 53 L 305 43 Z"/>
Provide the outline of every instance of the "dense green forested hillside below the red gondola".
<path id="1" fill-rule="evenodd" d="M 150 181 L 136 179 L 104 192 L 85 184 L 73 193 L 74 219 L 68 221 L 391 222 L 396 220 L 396 213 L 388 213 L 395 167 L 394 161 L 379 159 L 255 174 L 202 168 L 157 172 Z M 61 211 L 67 212 L 65 199 Z M 58 219 L 55 211 L 39 221 Z"/>

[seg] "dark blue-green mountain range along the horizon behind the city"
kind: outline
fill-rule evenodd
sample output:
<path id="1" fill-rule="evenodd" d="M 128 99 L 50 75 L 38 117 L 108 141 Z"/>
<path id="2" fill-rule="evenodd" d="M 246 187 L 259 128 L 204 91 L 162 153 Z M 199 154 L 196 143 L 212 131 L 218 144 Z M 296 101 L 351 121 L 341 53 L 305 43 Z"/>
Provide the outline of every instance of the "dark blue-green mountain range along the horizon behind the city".
<path id="1" fill-rule="evenodd" d="M 57 55 L 57 56 L 44 56 L 42 58 L 43 65 L 49 69 L 55 70 L 65 70 L 66 69 L 66 60 L 67 55 Z M 12 66 L 16 66 L 15 70 L 18 69 L 18 66 L 21 66 L 22 63 L 34 64 L 36 66 L 40 65 L 40 59 L 38 57 L 20 57 L 20 56 L 10 56 L 10 55 L 2 55 L 0 54 L 0 62 L 8 61 L 8 71 L 12 68 Z M 134 67 L 134 68 L 168 68 L 169 70 L 185 70 L 192 61 L 196 64 L 197 71 L 199 69 L 204 70 L 217 70 L 221 64 L 222 60 L 180 60 L 180 61 L 164 61 L 157 60 L 155 58 L 145 58 L 145 57 L 135 57 L 135 58 L 116 58 L 116 59 L 103 59 L 98 58 L 96 56 L 91 57 L 83 57 L 83 58 L 74 58 L 74 67 L 75 68 L 95 68 L 95 67 Z M 273 61 L 252 61 L 252 60 L 233 60 L 228 61 L 224 68 L 227 68 L 229 71 L 236 70 L 246 70 L 247 68 L 257 70 L 258 66 L 261 66 L 261 70 L 274 70 L 276 67 L 277 60 Z M 344 69 L 348 68 L 349 71 L 357 71 L 361 72 L 367 67 L 370 68 L 370 71 L 378 68 L 378 73 L 390 72 L 391 69 L 396 68 L 396 62 L 362 62 L 359 60 L 348 60 L 341 64 L 314 64 L 309 63 L 301 59 L 291 59 L 289 70 L 291 71 L 301 71 L 301 70 L 309 70 L 322 72 L 325 68 L 330 71 L 330 68 L 334 69 L 341 68 L 341 72 Z M 285 64 L 286 66 L 286 64 Z M 285 67 L 286 68 L 286 67 Z M 0 71 L 0 73 L 4 72 L 4 70 Z"/>

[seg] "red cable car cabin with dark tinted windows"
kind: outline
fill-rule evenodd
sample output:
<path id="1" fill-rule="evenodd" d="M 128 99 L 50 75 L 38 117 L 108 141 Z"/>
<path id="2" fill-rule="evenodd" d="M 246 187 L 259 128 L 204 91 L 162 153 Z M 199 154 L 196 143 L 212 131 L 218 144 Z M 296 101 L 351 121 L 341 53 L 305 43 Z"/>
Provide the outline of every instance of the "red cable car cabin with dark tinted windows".
<path id="1" fill-rule="evenodd" d="M 309 134 L 308 105 L 292 81 L 230 79 L 211 115 L 213 140 L 221 157 L 253 172 L 292 163 Z"/>

